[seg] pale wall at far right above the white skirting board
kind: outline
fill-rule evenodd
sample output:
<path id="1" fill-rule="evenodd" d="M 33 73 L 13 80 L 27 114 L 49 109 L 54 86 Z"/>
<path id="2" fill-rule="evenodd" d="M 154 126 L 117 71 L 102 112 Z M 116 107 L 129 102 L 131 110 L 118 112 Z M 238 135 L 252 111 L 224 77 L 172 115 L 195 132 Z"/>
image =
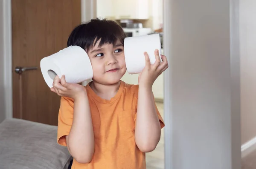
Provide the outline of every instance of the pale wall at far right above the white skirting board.
<path id="1" fill-rule="evenodd" d="M 241 143 L 256 137 L 256 1 L 240 1 Z"/>

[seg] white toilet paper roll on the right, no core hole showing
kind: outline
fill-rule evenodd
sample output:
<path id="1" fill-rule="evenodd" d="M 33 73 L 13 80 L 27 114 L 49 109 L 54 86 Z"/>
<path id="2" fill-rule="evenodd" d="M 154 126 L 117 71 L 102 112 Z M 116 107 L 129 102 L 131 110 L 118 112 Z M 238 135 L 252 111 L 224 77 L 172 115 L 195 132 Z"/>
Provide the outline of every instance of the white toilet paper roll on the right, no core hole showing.
<path id="1" fill-rule="evenodd" d="M 126 37 L 124 40 L 124 54 L 127 72 L 129 74 L 137 74 L 143 70 L 145 67 L 144 52 L 148 53 L 150 63 L 154 64 L 156 61 L 154 54 L 155 49 L 158 49 L 159 57 L 161 59 L 161 42 L 159 34 Z"/>

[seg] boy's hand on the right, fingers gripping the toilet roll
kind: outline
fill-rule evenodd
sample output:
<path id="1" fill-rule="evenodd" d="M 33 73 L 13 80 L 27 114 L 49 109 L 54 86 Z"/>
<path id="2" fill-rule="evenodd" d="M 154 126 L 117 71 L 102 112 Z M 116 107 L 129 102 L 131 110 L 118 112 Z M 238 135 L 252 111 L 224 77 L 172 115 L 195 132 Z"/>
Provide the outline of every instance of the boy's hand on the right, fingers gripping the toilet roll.
<path id="1" fill-rule="evenodd" d="M 144 52 L 145 55 L 145 68 L 140 72 L 139 75 L 139 85 L 145 86 L 145 87 L 152 87 L 154 81 L 157 79 L 157 77 L 163 73 L 168 68 L 168 62 L 166 59 L 166 56 L 161 54 L 162 62 L 160 60 L 158 50 L 155 50 L 155 57 L 156 61 L 153 65 L 150 63 L 150 59 L 148 57 L 147 52 Z"/>

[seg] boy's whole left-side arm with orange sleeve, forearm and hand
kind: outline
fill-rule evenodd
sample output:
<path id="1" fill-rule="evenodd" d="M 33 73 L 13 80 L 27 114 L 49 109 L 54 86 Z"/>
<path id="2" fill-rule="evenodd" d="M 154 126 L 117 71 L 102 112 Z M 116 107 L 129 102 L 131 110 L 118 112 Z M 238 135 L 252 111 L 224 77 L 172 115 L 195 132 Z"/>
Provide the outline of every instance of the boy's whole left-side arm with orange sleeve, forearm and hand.
<path id="1" fill-rule="evenodd" d="M 58 115 L 58 143 L 67 146 L 79 163 L 89 163 L 94 153 L 94 133 L 90 105 L 84 86 L 67 83 L 55 76 L 51 91 L 61 96 Z"/>

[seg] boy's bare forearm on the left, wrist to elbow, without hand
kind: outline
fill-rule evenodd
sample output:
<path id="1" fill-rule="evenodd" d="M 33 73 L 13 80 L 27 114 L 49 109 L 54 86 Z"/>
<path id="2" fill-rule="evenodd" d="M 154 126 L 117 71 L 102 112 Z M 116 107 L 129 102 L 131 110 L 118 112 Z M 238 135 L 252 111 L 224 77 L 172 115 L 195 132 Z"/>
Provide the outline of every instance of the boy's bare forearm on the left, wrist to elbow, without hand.
<path id="1" fill-rule="evenodd" d="M 74 103 L 73 124 L 67 137 L 70 154 L 79 163 L 89 163 L 94 153 L 93 123 L 87 94 Z"/>

